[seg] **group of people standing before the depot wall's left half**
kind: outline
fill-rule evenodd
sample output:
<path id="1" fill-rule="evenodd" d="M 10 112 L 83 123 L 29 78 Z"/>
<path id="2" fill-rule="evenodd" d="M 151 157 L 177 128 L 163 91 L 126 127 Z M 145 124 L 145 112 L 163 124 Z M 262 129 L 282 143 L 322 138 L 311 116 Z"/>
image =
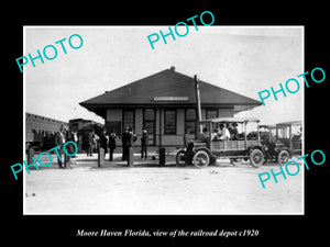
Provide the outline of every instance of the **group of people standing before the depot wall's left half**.
<path id="1" fill-rule="evenodd" d="M 92 156 L 92 150 L 96 148 L 103 148 L 105 155 L 109 149 L 109 160 L 113 160 L 113 151 L 117 147 L 117 134 L 113 130 L 110 131 L 110 134 L 107 135 L 107 131 L 103 130 L 98 134 L 95 131 L 90 131 L 88 133 L 88 143 L 87 143 L 87 156 Z M 122 160 L 128 160 L 129 151 L 131 147 L 134 147 L 135 142 L 138 141 L 136 134 L 132 128 L 125 127 L 124 132 L 121 135 L 122 143 Z M 147 157 L 147 144 L 148 144 L 148 135 L 145 128 L 142 128 L 142 137 L 141 137 L 141 159 L 146 159 Z"/>

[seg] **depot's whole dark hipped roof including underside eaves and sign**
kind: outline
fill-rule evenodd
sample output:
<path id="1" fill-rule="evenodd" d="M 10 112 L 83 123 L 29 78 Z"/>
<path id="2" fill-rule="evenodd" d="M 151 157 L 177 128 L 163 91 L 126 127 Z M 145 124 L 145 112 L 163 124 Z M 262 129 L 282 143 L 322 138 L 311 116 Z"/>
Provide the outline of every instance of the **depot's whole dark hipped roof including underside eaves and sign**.
<path id="1" fill-rule="evenodd" d="M 199 81 L 201 106 L 234 106 L 234 111 L 239 112 L 262 104 L 224 88 Z M 193 77 L 177 72 L 172 67 L 79 104 L 103 117 L 109 108 L 196 106 L 194 85 Z"/>

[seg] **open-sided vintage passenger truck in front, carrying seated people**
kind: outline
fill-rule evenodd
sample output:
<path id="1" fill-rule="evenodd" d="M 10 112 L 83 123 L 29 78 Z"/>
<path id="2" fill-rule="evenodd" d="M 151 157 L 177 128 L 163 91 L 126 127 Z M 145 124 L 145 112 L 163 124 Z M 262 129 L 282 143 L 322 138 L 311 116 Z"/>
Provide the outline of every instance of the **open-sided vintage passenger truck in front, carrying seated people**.
<path id="1" fill-rule="evenodd" d="M 215 139 L 215 130 L 220 124 L 240 125 L 241 133 L 229 139 Z M 190 161 L 197 168 L 205 168 L 209 164 L 216 164 L 217 158 L 228 158 L 231 162 L 238 158 L 250 159 L 253 167 L 260 167 L 265 160 L 265 150 L 257 131 L 254 134 L 246 134 L 246 126 L 253 123 L 257 130 L 258 120 L 252 117 L 219 117 L 199 121 L 197 123 L 197 138 L 190 143 L 190 147 L 182 148 L 176 155 L 178 166 L 187 165 Z M 233 130 L 233 128 L 232 128 Z M 189 145 L 188 145 L 189 146 Z M 190 159 L 190 160 L 189 160 Z"/>

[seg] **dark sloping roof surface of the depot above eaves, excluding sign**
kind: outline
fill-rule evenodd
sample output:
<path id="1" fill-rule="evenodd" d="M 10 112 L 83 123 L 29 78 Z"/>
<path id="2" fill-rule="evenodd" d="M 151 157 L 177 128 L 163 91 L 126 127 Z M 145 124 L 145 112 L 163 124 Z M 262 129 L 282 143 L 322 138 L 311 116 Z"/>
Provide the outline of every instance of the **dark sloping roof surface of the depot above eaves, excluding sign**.
<path id="1" fill-rule="evenodd" d="M 132 83 L 125 85 L 112 91 L 107 91 L 98 97 L 81 102 L 82 106 L 107 104 L 150 104 L 155 103 L 155 97 L 185 97 L 185 103 L 196 103 L 194 78 L 165 69 Z M 227 89 L 207 83 L 200 80 L 201 104 L 243 104 L 261 105 L 260 101 L 238 94 Z M 168 104 L 168 101 L 157 102 Z M 179 101 L 170 101 L 170 104 L 180 104 Z"/>

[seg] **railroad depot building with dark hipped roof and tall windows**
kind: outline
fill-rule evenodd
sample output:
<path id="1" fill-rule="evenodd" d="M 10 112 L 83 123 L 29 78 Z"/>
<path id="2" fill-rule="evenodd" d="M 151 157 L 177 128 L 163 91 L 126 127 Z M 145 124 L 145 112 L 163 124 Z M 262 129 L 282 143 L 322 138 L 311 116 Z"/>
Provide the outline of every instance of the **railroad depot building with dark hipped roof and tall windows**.
<path id="1" fill-rule="evenodd" d="M 229 117 L 262 103 L 200 80 L 201 119 Z M 150 146 L 180 146 L 185 130 L 196 133 L 194 77 L 165 69 L 127 86 L 79 103 L 105 119 L 108 132 L 121 135 L 132 127 L 140 145 L 141 130 L 148 133 Z M 118 139 L 118 145 L 121 145 Z"/>

